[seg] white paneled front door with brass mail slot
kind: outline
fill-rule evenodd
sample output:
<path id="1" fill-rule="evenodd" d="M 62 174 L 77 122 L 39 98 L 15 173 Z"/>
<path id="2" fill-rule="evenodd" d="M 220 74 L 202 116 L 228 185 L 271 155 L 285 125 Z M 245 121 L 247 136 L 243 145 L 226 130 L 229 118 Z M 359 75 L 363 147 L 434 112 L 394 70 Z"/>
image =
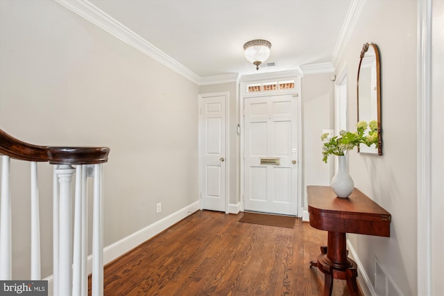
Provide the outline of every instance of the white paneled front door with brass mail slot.
<path id="1" fill-rule="evenodd" d="M 274 214 L 298 211 L 297 97 L 244 99 L 244 208 Z"/>

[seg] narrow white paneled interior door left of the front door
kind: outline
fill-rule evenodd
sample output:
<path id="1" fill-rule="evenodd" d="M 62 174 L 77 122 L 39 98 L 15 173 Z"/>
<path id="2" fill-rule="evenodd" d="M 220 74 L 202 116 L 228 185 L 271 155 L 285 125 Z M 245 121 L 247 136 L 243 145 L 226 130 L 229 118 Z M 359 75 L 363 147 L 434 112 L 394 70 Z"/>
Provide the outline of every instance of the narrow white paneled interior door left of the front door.
<path id="1" fill-rule="evenodd" d="M 201 97 L 200 156 L 202 209 L 225 211 L 226 95 Z"/>

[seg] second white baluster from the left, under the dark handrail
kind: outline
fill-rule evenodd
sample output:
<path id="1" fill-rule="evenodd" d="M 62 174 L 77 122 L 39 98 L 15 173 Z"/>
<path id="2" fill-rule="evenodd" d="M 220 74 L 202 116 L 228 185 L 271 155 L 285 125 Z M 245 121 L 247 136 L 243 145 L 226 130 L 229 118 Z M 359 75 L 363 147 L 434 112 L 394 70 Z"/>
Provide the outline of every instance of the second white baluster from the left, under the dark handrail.
<path id="1" fill-rule="evenodd" d="M 40 277 L 40 213 L 37 162 L 31 162 L 31 279 Z"/>

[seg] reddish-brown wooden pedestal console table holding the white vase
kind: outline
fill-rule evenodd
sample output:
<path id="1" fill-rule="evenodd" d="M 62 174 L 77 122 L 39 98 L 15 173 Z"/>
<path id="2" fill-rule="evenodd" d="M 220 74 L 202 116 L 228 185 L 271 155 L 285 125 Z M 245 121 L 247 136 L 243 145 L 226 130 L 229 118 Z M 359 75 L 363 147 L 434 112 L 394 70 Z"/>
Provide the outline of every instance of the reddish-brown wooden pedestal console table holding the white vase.
<path id="1" fill-rule="evenodd" d="M 323 296 L 332 295 L 333 279 L 345 279 L 350 295 L 359 295 L 357 265 L 348 258 L 345 234 L 390 236 L 391 214 L 355 188 L 348 198 L 338 198 L 330 186 L 307 186 L 310 225 L 327 230 L 327 247 L 310 262 L 325 275 Z"/>

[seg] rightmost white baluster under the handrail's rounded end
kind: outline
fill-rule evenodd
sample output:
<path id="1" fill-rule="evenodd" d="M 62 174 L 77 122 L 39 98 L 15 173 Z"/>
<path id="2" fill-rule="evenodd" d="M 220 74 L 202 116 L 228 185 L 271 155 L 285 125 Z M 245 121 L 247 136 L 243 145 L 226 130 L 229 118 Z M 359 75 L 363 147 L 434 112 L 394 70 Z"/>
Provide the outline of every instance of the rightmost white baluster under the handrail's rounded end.
<path id="1" fill-rule="evenodd" d="M 103 184 L 102 164 L 94 164 L 94 214 L 92 225 L 92 295 L 103 295 Z"/>

